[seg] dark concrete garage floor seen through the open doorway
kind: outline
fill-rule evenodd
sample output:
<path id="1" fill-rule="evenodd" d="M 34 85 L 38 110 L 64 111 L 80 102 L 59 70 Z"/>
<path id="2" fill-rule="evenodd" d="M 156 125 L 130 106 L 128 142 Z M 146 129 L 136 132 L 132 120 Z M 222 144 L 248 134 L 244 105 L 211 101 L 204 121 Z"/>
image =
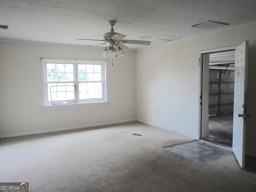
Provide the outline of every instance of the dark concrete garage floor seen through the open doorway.
<path id="1" fill-rule="evenodd" d="M 232 147 L 233 113 L 210 116 L 209 136 L 205 140 Z"/>

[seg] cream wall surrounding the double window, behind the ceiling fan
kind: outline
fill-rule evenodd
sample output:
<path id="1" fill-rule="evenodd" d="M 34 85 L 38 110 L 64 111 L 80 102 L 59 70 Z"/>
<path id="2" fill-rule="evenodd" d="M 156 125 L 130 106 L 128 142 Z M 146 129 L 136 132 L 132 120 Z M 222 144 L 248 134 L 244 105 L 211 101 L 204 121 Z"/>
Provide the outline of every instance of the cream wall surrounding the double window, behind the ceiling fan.
<path id="1" fill-rule="evenodd" d="M 136 119 L 136 52 L 108 61 L 107 104 L 42 107 L 42 58 L 96 59 L 102 50 L 0 43 L 0 138 Z M 80 110 L 80 114 L 77 110 Z"/>

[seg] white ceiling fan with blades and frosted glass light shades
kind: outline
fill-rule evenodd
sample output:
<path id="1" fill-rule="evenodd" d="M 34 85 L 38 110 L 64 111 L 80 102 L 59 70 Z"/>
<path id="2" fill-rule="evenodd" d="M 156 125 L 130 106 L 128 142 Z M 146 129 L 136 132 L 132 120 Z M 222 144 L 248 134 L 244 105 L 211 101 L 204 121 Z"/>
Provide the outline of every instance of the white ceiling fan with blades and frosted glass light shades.
<path id="1" fill-rule="evenodd" d="M 105 33 L 103 35 L 103 40 L 95 40 L 95 39 L 76 39 L 76 40 L 92 40 L 92 41 L 104 41 L 104 43 L 89 46 L 95 47 L 102 44 L 109 43 L 109 46 L 106 46 L 104 48 L 103 57 L 109 57 L 109 58 L 117 58 L 124 56 L 123 49 L 127 49 L 128 47 L 124 44 L 138 44 L 138 45 L 150 45 L 150 41 L 139 41 L 139 40 L 123 40 L 126 36 L 120 33 L 114 32 L 113 26 L 116 24 L 116 21 L 110 20 L 108 21 L 108 24 L 111 26 L 111 30 L 108 33 Z"/>

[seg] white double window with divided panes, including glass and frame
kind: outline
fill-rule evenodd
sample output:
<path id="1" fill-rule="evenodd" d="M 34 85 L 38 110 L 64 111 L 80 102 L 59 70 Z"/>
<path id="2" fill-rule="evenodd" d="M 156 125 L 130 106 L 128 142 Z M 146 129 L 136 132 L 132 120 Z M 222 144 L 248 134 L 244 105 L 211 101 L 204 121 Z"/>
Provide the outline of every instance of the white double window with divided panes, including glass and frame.
<path id="1" fill-rule="evenodd" d="M 44 105 L 105 102 L 106 61 L 42 59 Z"/>

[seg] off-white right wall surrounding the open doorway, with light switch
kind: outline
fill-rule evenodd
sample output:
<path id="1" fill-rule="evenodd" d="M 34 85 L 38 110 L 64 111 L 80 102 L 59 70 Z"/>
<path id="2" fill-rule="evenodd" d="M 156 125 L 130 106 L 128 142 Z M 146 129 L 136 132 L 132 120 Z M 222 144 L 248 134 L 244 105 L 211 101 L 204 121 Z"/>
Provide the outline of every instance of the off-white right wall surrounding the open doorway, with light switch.
<path id="1" fill-rule="evenodd" d="M 256 26 L 176 42 L 137 52 L 137 120 L 199 137 L 199 52 L 236 46 L 249 40 L 248 114 L 246 151 L 256 156 Z M 160 114 L 158 111 L 160 110 Z"/>

